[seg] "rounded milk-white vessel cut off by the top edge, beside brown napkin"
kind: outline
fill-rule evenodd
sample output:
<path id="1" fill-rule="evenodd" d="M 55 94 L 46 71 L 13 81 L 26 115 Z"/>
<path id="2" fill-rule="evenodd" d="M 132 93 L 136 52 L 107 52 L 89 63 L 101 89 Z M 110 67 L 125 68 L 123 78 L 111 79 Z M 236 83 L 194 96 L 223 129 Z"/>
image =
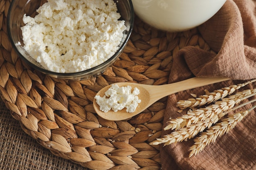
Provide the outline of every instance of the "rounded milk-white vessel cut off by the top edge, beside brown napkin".
<path id="1" fill-rule="evenodd" d="M 135 14 L 163 31 L 192 29 L 209 20 L 226 0 L 132 0 Z"/>

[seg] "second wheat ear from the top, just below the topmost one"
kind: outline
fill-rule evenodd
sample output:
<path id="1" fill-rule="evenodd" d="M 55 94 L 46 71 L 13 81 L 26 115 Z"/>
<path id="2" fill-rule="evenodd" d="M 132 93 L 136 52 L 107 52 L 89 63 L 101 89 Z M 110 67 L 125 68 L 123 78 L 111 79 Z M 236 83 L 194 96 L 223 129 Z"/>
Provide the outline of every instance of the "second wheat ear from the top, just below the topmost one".
<path id="1" fill-rule="evenodd" d="M 190 124 L 196 124 L 200 120 L 204 121 L 204 119 L 207 117 L 211 119 L 213 115 L 219 115 L 220 113 L 226 112 L 227 110 L 234 107 L 235 104 L 241 102 L 241 100 L 249 98 L 252 95 L 255 95 L 255 93 L 256 89 L 247 89 L 245 91 L 238 92 L 235 95 L 223 98 L 221 101 L 217 101 L 215 104 L 206 106 L 205 108 L 188 110 L 187 114 L 167 121 L 168 125 L 164 128 L 164 130 L 178 130 L 184 126 L 188 127 Z"/>

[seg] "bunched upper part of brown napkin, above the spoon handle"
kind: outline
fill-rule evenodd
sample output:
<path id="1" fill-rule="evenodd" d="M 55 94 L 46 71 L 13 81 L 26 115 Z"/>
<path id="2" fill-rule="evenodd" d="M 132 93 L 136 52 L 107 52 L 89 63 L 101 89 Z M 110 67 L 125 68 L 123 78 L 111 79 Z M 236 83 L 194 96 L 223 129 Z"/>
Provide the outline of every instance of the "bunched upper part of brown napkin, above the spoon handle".
<path id="1" fill-rule="evenodd" d="M 189 70 L 184 72 L 198 77 L 256 78 L 255 4 L 252 0 L 227 0 L 216 15 L 198 27 L 204 40 L 218 54 L 187 46 L 176 56 L 170 78 L 186 65 Z M 185 62 L 182 66 L 181 61 Z"/>

